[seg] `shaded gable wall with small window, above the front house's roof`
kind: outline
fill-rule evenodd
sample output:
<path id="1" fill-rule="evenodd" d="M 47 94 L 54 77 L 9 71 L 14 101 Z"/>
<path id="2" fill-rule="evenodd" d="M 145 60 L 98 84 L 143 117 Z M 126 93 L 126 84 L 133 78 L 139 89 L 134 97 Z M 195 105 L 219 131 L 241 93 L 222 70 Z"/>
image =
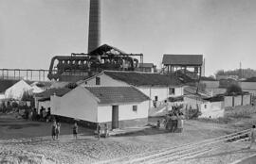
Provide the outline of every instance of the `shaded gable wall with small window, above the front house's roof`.
<path id="1" fill-rule="evenodd" d="M 97 77 L 101 78 L 101 86 L 110 86 L 110 87 L 111 86 L 113 86 L 113 87 L 130 86 L 127 83 L 113 79 L 106 74 L 100 74 Z M 88 86 L 95 86 L 96 85 L 96 76 L 91 79 L 86 80 L 86 82 L 87 82 Z M 81 86 L 85 86 L 85 84 L 82 83 Z"/>

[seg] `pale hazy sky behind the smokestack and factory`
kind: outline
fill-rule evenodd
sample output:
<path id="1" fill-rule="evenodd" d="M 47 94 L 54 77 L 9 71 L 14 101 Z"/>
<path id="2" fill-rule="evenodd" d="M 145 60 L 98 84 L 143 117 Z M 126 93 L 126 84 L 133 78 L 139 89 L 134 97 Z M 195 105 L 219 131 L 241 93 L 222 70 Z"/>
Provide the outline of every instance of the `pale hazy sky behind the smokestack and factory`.
<path id="1" fill-rule="evenodd" d="M 102 0 L 101 43 L 142 53 L 202 54 L 206 75 L 256 69 L 255 0 Z M 89 0 L 0 0 L 0 68 L 48 69 L 87 52 Z"/>

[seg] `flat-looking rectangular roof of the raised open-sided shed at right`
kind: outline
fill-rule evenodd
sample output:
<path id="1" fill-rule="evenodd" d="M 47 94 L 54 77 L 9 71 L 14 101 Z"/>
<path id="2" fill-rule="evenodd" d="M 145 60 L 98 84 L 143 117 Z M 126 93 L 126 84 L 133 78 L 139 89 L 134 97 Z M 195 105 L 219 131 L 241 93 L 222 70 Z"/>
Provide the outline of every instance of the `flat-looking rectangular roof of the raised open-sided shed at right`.
<path id="1" fill-rule="evenodd" d="M 202 65 L 203 55 L 164 55 L 164 65 Z"/>

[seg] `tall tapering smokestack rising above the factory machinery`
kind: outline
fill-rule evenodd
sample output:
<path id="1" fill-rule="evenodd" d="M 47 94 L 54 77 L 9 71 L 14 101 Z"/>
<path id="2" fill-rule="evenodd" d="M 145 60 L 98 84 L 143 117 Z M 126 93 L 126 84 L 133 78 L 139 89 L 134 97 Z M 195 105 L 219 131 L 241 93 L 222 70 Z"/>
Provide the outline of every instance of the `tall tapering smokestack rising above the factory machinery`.
<path id="1" fill-rule="evenodd" d="M 101 44 L 101 0 L 90 0 L 88 53 Z"/>

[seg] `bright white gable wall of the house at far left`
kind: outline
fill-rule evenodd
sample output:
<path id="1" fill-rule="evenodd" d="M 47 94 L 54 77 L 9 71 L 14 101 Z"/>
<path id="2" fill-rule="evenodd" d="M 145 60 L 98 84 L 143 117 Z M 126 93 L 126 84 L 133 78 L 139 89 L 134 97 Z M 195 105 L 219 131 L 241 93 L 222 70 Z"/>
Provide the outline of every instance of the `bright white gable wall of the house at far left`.
<path id="1" fill-rule="evenodd" d="M 25 92 L 32 94 L 32 87 L 24 80 L 20 80 L 5 91 L 5 97 L 7 99 L 21 100 Z"/>

